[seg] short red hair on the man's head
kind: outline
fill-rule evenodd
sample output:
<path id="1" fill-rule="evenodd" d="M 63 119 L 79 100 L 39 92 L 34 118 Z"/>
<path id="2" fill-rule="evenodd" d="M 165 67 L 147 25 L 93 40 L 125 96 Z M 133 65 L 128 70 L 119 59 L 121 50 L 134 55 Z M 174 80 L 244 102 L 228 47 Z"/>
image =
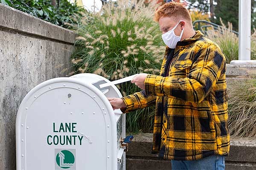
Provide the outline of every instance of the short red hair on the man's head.
<path id="1" fill-rule="evenodd" d="M 170 2 L 165 3 L 157 9 L 154 15 L 154 20 L 159 21 L 160 17 L 180 17 L 185 20 L 191 21 L 189 10 L 183 3 Z"/>

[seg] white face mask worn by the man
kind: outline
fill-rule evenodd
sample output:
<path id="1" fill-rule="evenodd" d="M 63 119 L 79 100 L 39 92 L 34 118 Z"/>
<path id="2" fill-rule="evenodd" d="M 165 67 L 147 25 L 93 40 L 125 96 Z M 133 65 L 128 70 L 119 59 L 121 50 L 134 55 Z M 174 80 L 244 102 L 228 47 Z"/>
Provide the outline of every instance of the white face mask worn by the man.
<path id="1" fill-rule="evenodd" d="M 182 29 L 180 36 L 176 36 L 174 33 L 175 28 L 178 26 L 180 21 L 177 23 L 175 27 L 173 27 L 170 31 L 162 34 L 163 42 L 169 47 L 169 48 L 175 48 L 178 41 L 180 41 L 184 28 Z"/>

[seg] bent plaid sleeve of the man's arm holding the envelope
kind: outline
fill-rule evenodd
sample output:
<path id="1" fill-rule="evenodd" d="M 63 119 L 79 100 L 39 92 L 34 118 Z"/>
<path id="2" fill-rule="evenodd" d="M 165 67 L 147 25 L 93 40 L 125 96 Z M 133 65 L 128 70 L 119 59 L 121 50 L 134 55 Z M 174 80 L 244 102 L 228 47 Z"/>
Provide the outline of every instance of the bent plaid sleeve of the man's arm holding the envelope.
<path id="1" fill-rule="evenodd" d="M 180 65 L 180 69 L 187 66 L 190 66 L 190 70 L 185 78 L 148 74 L 145 79 L 146 94 L 167 96 L 186 102 L 201 102 L 225 71 L 226 62 L 217 45 L 205 43 L 195 55 L 194 62 L 190 60 L 190 65 Z M 177 69 L 179 68 L 177 67 Z"/>

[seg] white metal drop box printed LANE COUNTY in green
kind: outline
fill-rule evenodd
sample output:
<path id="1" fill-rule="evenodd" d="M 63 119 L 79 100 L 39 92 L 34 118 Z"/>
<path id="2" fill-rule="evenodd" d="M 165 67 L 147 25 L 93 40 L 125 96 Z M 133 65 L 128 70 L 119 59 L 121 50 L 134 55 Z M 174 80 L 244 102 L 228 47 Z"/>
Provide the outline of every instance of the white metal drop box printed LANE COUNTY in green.
<path id="1" fill-rule="evenodd" d="M 17 170 L 125 170 L 125 114 L 107 99 L 122 95 L 105 82 L 77 74 L 29 91 L 16 119 Z"/>

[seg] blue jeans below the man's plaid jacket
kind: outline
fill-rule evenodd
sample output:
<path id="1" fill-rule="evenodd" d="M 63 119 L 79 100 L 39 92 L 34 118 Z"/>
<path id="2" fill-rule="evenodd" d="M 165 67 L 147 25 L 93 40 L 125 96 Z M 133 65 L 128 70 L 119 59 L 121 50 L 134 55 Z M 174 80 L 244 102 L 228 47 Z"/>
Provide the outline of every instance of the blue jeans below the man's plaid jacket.
<path id="1" fill-rule="evenodd" d="M 172 170 L 225 170 L 225 156 L 212 155 L 194 161 L 171 160 Z"/>

